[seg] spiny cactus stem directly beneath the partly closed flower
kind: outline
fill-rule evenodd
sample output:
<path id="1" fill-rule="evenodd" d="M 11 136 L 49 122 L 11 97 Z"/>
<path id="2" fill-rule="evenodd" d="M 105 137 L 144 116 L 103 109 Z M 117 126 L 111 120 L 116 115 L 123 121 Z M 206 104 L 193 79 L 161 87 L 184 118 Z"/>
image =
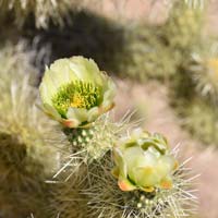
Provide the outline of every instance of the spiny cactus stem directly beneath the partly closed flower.
<path id="1" fill-rule="evenodd" d="M 173 175 L 174 186 L 171 190 L 159 191 L 155 190 L 153 193 L 144 193 L 141 191 L 122 192 L 111 175 L 110 168 L 96 171 L 99 174 L 94 175 L 93 186 L 86 192 L 89 195 L 89 210 L 90 218 L 104 216 L 110 217 L 182 217 L 189 214 L 185 207 L 192 204 L 192 208 L 196 198 L 192 195 L 190 183 L 183 178 L 179 170 Z M 183 198 L 185 195 L 185 199 Z"/>

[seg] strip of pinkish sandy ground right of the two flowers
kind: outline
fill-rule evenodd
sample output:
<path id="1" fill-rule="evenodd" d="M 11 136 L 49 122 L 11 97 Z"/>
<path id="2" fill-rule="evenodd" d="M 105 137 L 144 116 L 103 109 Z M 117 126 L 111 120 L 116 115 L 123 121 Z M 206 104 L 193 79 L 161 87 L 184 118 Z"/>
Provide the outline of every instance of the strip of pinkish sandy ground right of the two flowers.
<path id="1" fill-rule="evenodd" d="M 117 117 L 126 110 L 138 109 L 145 117 L 142 123 L 150 132 L 167 136 L 172 146 L 180 144 L 184 157 L 193 157 L 193 171 L 201 177 L 195 181 L 198 189 L 201 218 L 218 218 L 218 150 L 202 145 L 197 140 L 180 128 L 180 120 L 169 106 L 168 92 L 164 85 L 149 82 L 144 85 L 130 81 L 117 81 Z"/>

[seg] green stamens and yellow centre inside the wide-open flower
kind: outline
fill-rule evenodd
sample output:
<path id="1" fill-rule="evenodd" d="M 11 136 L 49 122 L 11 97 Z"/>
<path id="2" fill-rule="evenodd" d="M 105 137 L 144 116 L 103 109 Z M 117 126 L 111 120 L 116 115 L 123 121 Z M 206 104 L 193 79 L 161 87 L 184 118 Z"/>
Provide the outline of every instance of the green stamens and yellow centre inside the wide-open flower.
<path id="1" fill-rule="evenodd" d="M 93 83 L 74 81 L 58 89 L 52 98 L 52 104 L 58 112 L 65 118 L 70 107 L 90 109 L 99 106 L 101 100 L 101 87 L 95 86 Z"/>

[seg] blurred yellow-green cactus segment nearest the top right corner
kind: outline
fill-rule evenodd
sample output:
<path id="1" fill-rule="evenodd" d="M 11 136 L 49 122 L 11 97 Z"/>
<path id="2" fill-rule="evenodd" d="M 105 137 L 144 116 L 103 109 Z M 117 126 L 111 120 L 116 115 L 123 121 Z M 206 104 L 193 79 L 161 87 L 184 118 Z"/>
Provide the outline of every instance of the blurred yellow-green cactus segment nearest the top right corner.
<path id="1" fill-rule="evenodd" d="M 183 51 L 192 48 L 201 38 L 203 21 L 203 10 L 190 9 L 183 1 L 175 1 L 162 29 L 167 44 Z"/>

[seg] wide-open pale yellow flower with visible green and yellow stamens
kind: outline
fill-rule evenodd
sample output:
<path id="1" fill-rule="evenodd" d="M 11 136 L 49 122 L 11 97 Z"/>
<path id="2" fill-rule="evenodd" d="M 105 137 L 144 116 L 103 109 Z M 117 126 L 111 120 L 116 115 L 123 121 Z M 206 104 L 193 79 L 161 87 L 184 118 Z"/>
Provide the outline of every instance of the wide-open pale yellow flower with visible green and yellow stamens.
<path id="1" fill-rule="evenodd" d="M 113 107 L 116 86 L 92 59 L 55 61 L 40 84 L 45 111 L 68 128 L 88 125 Z"/>

